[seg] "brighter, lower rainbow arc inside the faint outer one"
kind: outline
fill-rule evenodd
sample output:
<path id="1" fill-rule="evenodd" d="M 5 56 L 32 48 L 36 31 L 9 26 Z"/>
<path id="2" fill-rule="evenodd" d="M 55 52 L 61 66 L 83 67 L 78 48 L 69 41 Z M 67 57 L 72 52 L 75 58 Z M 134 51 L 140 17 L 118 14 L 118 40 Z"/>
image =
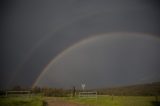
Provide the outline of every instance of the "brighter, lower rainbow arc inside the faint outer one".
<path id="1" fill-rule="evenodd" d="M 39 74 L 39 76 L 37 77 L 37 79 L 35 80 L 35 82 L 33 83 L 32 87 L 35 87 L 38 85 L 38 83 L 40 82 L 41 78 L 45 75 L 45 73 L 47 72 L 47 70 L 54 64 L 56 63 L 59 59 L 61 59 L 66 53 L 68 53 L 69 51 L 81 46 L 81 45 L 85 45 L 88 42 L 94 41 L 102 36 L 119 36 L 119 35 L 127 35 L 127 36 L 148 36 L 148 37 L 154 37 L 158 40 L 160 40 L 159 37 L 157 36 L 153 36 L 151 34 L 142 34 L 142 33 L 130 33 L 130 32 L 117 32 L 117 33 L 103 33 L 103 34 L 98 34 L 98 35 L 93 35 L 91 37 L 87 37 L 83 40 L 80 40 L 79 42 L 73 44 L 72 46 L 66 48 L 65 50 L 63 50 L 61 53 L 59 53 L 55 58 L 53 58 L 47 65 L 46 67 L 41 71 L 41 73 Z"/>

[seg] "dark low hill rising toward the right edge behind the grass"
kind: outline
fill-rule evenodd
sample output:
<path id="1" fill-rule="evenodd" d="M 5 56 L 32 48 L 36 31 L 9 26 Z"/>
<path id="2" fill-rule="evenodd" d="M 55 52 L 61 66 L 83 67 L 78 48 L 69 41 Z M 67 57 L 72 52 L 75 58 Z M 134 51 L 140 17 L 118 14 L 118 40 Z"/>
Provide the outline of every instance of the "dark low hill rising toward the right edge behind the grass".
<path id="1" fill-rule="evenodd" d="M 160 82 L 97 89 L 100 95 L 160 96 Z"/>

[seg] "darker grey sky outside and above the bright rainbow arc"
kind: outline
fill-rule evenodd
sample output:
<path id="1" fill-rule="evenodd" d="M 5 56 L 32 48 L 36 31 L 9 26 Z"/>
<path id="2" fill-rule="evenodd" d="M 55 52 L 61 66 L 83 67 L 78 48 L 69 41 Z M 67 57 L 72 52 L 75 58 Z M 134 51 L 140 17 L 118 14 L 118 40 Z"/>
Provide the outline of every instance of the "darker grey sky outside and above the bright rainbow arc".
<path id="1" fill-rule="evenodd" d="M 152 0 L 3 2 L 1 86 L 6 86 L 10 80 L 10 85 L 30 86 L 58 53 L 93 34 L 159 35 L 158 4 Z"/>

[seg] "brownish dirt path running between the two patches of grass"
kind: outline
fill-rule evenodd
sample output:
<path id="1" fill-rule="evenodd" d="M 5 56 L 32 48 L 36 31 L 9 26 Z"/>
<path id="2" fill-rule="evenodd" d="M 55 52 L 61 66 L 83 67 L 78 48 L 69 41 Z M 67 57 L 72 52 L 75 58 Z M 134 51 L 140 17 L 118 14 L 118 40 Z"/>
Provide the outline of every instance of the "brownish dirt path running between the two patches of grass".
<path id="1" fill-rule="evenodd" d="M 45 102 L 46 106 L 84 106 L 76 103 L 67 102 L 57 98 L 48 98 L 45 99 Z"/>

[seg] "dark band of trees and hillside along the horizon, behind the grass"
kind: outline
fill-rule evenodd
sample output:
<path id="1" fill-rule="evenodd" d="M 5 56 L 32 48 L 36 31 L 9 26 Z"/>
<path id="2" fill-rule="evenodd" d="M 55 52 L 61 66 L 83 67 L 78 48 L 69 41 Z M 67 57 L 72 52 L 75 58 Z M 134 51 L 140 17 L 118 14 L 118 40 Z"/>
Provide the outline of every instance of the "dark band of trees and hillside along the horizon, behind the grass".
<path id="1" fill-rule="evenodd" d="M 49 88 L 49 87 L 34 87 L 34 88 L 25 88 L 21 86 L 15 86 L 12 91 L 31 91 L 32 94 L 41 94 L 43 96 L 55 96 L 55 97 L 64 97 L 64 96 L 74 96 L 81 90 L 76 89 L 62 89 L 62 88 Z M 160 96 L 160 82 L 150 83 L 150 84 L 141 84 L 133 85 L 126 87 L 114 87 L 114 88 L 103 88 L 103 89 L 94 89 L 87 91 L 97 91 L 98 95 L 118 95 L 118 96 Z M 0 95 L 5 95 L 6 90 L 0 90 Z"/>

